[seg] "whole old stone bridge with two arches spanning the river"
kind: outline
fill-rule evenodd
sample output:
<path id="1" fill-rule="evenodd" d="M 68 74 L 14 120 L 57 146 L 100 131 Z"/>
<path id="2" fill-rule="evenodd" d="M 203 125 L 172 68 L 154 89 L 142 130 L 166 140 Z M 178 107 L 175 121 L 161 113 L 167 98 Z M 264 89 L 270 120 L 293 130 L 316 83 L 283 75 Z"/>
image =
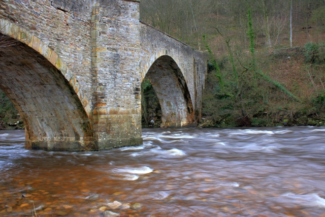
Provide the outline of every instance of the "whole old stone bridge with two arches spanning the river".
<path id="1" fill-rule="evenodd" d="M 139 21 L 138 0 L 0 0 L 0 32 L 0 88 L 27 149 L 142 144 L 144 77 L 165 127 L 200 119 L 206 54 Z"/>

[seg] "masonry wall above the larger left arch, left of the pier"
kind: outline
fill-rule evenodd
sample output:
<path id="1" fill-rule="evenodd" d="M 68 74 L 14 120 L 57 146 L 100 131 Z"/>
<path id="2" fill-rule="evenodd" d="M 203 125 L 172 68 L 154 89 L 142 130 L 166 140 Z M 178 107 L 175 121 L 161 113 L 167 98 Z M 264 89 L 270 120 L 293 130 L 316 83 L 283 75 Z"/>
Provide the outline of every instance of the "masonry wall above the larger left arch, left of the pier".
<path id="1" fill-rule="evenodd" d="M 0 19 L 27 29 L 53 49 L 75 75 L 89 103 L 92 4 L 92 0 L 0 0 Z"/>

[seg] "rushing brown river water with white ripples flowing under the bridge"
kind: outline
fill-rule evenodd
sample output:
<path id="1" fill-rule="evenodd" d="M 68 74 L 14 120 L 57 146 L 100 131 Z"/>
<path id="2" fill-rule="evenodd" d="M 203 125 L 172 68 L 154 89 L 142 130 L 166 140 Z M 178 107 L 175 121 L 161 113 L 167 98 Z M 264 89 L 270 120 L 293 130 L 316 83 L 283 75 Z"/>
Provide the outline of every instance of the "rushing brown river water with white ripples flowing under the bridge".
<path id="1" fill-rule="evenodd" d="M 325 216 L 325 127 L 143 137 L 138 147 L 52 152 L 0 131 L 0 216 L 32 216 L 33 204 L 41 216 Z"/>

